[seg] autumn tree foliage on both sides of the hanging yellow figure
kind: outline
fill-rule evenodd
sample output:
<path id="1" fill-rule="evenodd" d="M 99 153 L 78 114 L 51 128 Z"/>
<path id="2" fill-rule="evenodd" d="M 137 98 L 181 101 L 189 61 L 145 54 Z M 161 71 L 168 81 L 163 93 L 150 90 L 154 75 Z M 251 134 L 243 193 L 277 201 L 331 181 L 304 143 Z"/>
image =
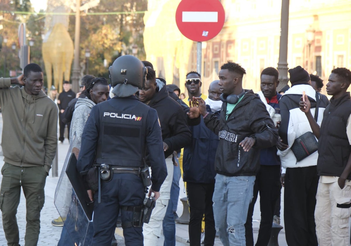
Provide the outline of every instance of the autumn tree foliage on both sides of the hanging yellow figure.
<path id="1" fill-rule="evenodd" d="M 82 4 L 85 2 L 82 1 Z M 9 70 L 19 70 L 18 26 L 21 22 L 26 23 L 28 39 L 34 41 L 34 46 L 30 48 L 30 62 L 37 63 L 44 69 L 41 35 L 45 33 L 45 15 L 13 13 L 14 11 L 32 12 L 30 0 L 1 0 L 0 10 L 7 12 L 3 14 L 6 21 L 1 22 L 4 30 L 0 31 L 0 35 L 8 38 L 7 44 L 3 43 L 0 51 L 1 76 L 8 76 Z M 91 54 L 88 58 L 89 73 L 108 78 L 108 67 L 112 65 L 114 59 L 122 54 L 132 54 L 133 45 L 138 47 L 135 56 L 141 60 L 145 59 L 143 12 L 146 10 L 147 0 L 100 0 L 98 6 L 88 9 L 89 15 L 81 12 L 80 64 L 85 62 L 85 49 L 89 48 Z M 106 14 L 94 15 L 94 13 L 104 12 Z M 108 14 L 112 12 L 118 12 L 118 14 Z M 68 32 L 73 41 L 74 31 L 75 15 L 70 15 Z M 17 45 L 16 50 L 11 48 L 13 42 Z M 4 52 L 6 52 L 5 73 L 1 66 L 5 62 Z M 107 67 L 104 66 L 105 59 Z"/>

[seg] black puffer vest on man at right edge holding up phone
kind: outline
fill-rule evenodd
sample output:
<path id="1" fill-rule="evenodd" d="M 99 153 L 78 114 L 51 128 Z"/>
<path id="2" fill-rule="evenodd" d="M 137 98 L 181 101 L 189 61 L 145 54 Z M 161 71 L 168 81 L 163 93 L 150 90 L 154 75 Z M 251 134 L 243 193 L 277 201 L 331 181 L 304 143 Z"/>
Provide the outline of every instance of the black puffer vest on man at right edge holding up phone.
<path id="1" fill-rule="evenodd" d="M 351 153 L 346 134 L 347 119 L 351 114 L 350 92 L 331 100 L 325 108 L 318 139 L 318 175 L 338 176 L 342 174 Z M 349 175 L 348 179 L 351 179 Z"/>

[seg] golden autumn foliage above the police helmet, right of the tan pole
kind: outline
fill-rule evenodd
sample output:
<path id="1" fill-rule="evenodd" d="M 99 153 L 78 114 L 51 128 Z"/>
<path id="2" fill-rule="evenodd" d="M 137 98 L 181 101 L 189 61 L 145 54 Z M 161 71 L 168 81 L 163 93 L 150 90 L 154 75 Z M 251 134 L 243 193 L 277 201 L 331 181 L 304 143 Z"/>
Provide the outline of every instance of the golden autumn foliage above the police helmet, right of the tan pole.
<path id="1" fill-rule="evenodd" d="M 122 54 L 132 54 L 132 46 L 137 45 L 135 54 L 145 59 L 144 50 L 144 12 L 147 0 L 100 0 L 97 7 L 89 13 L 120 12 L 119 14 L 84 15 L 81 17 L 80 46 L 81 59 L 85 59 L 86 48 L 90 49 L 89 73 L 95 76 L 108 77 L 108 66 Z M 69 21 L 69 32 L 74 37 L 75 17 Z M 107 67 L 104 67 L 104 59 Z"/>

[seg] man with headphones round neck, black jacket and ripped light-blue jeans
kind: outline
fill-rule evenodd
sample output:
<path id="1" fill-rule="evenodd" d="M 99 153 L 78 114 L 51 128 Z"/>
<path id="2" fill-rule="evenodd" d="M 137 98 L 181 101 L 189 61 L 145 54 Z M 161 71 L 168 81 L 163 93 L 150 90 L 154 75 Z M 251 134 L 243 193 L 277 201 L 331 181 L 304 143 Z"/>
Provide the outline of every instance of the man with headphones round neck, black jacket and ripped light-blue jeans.
<path id="1" fill-rule="evenodd" d="M 245 245 L 245 221 L 259 170 L 259 149 L 277 144 L 278 132 L 265 105 L 252 90 L 243 90 L 246 74 L 239 64 L 228 62 L 219 71 L 224 102 L 220 119 L 206 111 L 200 97 L 194 97 L 190 118 L 203 117 L 219 136 L 215 159 L 216 183 L 213 214 L 223 245 Z"/>

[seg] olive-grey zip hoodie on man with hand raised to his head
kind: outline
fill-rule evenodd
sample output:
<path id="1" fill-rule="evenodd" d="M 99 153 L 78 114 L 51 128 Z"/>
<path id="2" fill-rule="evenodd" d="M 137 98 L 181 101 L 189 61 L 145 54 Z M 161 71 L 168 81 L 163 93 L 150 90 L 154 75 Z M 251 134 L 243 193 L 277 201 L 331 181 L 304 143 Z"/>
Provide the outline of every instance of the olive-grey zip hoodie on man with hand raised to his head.
<path id="1" fill-rule="evenodd" d="M 19 167 L 44 166 L 47 173 L 57 147 L 57 105 L 46 96 L 28 95 L 0 78 L 4 161 Z"/>

